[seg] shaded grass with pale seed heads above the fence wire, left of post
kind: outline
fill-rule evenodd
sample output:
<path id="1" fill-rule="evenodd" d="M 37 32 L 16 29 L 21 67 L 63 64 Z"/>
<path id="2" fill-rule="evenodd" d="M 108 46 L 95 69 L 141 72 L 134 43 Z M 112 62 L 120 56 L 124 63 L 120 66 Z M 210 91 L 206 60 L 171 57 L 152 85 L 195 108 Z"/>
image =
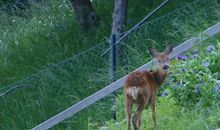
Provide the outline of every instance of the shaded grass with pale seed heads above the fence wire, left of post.
<path id="1" fill-rule="evenodd" d="M 107 3 L 112 5 L 111 2 Z M 102 2 L 97 4 L 103 5 Z M 103 12 L 108 17 L 103 17 L 104 14 L 100 13 L 103 20 L 101 26 L 88 34 L 79 31 L 68 1 L 36 4 L 32 9 L 33 16 L 29 19 L 2 14 L 1 86 L 22 79 L 104 40 L 110 29 L 108 21 L 111 8 L 99 9 L 97 8 L 98 12 Z"/>

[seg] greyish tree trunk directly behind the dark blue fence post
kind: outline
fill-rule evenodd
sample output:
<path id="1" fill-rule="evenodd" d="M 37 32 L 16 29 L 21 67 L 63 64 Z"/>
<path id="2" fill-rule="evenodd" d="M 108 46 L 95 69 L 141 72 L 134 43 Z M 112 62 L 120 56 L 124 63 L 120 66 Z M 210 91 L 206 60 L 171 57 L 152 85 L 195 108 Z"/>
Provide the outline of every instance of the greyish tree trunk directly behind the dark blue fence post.
<path id="1" fill-rule="evenodd" d="M 116 35 L 118 40 L 124 32 L 127 20 L 128 0 L 115 0 L 115 9 L 113 14 L 112 35 Z M 117 45 L 117 62 L 120 63 L 123 59 L 124 45 Z"/>

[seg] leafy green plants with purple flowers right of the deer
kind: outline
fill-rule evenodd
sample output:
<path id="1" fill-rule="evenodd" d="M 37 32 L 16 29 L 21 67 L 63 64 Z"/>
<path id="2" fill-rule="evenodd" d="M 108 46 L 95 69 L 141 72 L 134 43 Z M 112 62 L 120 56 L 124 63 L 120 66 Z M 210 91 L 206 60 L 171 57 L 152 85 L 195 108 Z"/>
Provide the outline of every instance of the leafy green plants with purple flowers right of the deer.
<path id="1" fill-rule="evenodd" d="M 217 76 L 220 71 L 216 66 L 216 61 L 220 58 L 220 44 L 219 42 L 212 44 L 204 49 L 194 48 L 191 53 L 185 55 L 187 59 L 181 59 L 180 57 L 184 55 L 182 54 L 178 56 L 179 60 L 174 61 L 173 76 L 168 86 L 172 86 L 169 90 L 179 105 L 206 108 L 220 99 L 219 90 L 217 90 L 220 83 Z M 211 47 L 214 49 L 210 50 Z"/>

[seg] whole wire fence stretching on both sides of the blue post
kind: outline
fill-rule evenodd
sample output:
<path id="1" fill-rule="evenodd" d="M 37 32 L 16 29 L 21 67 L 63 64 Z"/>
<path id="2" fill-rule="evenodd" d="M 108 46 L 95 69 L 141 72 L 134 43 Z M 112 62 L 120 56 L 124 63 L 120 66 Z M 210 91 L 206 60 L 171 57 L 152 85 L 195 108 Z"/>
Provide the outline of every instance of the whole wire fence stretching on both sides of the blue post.
<path id="1" fill-rule="evenodd" d="M 142 25 L 137 32 L 120 42 L 125 52 L 124 59 L 118 62 L 116 78 L 149 61 L 149 46 L 162 50 L 166 42 L 180 43 L 219 20 L 214 6 L 213 1 L 194 1 L 189 6 Z M 204 9 L 201 10 L 201 7 Z M 101 56 L 108 48 L 107 42 L 98 44 L 74 58 L 0 88 L 3 92 L 14 85 L 29 85 L 0 99 L 0 129 L 14 129 L 18 123 L 22 124 L 22 129 L 30 129 L 108 85 L 108 55 Z M 99 122 L 99 126 L 111 119 L 112 109 L 115 109 L 113 102 L 110 95 L 54 129 L 88 129 L 90 122 Z M 8 126 L 4 125 L 8 121 Z"/>

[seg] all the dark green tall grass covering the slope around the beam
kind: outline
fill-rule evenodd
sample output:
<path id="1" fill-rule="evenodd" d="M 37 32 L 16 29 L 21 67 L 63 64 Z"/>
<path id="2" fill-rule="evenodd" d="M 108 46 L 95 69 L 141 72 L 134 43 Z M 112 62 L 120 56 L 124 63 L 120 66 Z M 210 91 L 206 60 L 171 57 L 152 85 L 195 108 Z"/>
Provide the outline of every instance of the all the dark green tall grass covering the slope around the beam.
<path id="1" fill-rule="evenodd" d="M 168 5 L 166 9 L 173 10 L 174 5 L 180 7 L 185 2 L 173 1 L 175 4 Z M 129 23 L 128 26 L 133 25 L 143 16 L 143 8 L 139 8 L 143 3 L 134 4 L 136 5 L 134 10 L 140 16 L 138 18 L 134 10 L 129 8 L 128 18 L 134 22 Z M 97 12 L 104 18 L 104 22 L 97 30 L 85 35 L 76 28 L 72 12 L 67 5 L 66 2 L 53 1 L 48 5 L 36 6 L 37 11 L 33 12 L 34 17 L 29 20 L 15 16 L 8 22 L 7 17 L 10 16 L 7 14 L 1 16 L 3 17 L 1 22 L 5 25 L 5 28 L 1 28 L 3 32 L 1 42 L 4 43 L 1 46 L 0 64 L 2 68 L 0 74 L 3 77 L 2 86 L 22 79 L 39 68 L 70 57 L 82 48 L 88 48 L 93 43 L 104 40 L 103 37 L 108 37 L 109 19 L 111 19 L 113 5 L 111 2 L 97 1 L 94 3 Z M 145 48 L 149 45 L 147 43 L 150 40 L 155 41 L 153 44 L 162 49 L 159 43 L 163 43 L 167 39 L 178 43 L 218 20 L 219 14 L 216 13 L 216 5 L 210 4 L 207 6 L 210 7 L 208 9 L 200 6 L 204 7 L 204 2 L 195 6 L 196 8 L 189 7 L 182 12 L 149 23 L 138 33 L 131 35 L 126 44 L 128 57 L 125 58 L 125 63 L 128 65 L 119 68 L 117 76 L 120 77 L 147 61 L 148 58 L 142 54 L 145 54 Z M 45 15 L 40 15 L 42 13 Z M 194 14 L 194 17 L 191 16 L 191 13 Z M 24 26 L 24 28 L 20 28 L 20 26 Z M 79 41 L 81 44 L 78 44 Z M 0 128 L 31 128 L 107 85 L 108 57 L 100 57 L 100 52 L 107 47 L 107 44 L 100 45 L 89 53 L 82 54 L 59 67 L 49 69 L 44 74 L 39 74 L 26 82 L 32 87 L 18 90 L 0 99 L 0 122 L 2 122 Z M 135 55 L 141 55 L 141 57 L 136 58 Z M 105 114 L 105 119 L 110 118 L 109 108 L 112 104 L 106 102 L 112 101 L 104 99 L 54 129 L 86 129 L 89 120 L 94 120 L 94 117 L 99 121 L 103 121 L 103 114 Z"/>

